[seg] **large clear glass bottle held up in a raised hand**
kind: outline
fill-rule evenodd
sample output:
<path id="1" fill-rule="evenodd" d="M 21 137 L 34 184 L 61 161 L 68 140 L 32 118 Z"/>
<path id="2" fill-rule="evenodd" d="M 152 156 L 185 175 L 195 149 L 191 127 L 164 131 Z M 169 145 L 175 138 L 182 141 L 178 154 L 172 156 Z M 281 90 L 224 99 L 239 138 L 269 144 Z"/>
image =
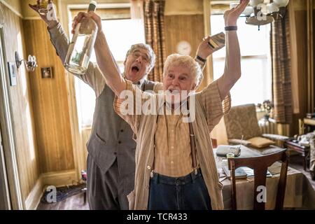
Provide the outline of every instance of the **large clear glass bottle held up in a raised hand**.
<path id="1" fill-rule="evenodd" d="M 87 11 L 95 11 L 96 7 L 96 1 L 90 1 L 90 6 Z M 83 18 L 76 26 L 76 31 L 69 44 L 64 62 L 66 70 L 78 75 L 85 74 L 94 48 L 97 29 L 97 24 L 92 18 Z"/>

